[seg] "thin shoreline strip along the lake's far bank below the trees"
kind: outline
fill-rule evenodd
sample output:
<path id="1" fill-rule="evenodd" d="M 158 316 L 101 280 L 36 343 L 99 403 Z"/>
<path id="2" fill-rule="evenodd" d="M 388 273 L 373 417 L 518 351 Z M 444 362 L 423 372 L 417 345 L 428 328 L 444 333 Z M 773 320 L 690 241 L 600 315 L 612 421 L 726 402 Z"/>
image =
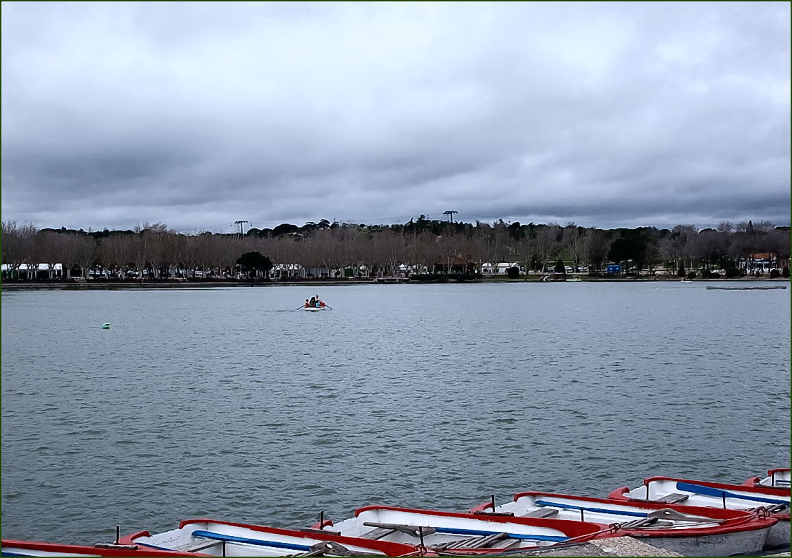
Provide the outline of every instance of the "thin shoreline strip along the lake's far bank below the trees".
<path id="1" fill-rule="evenodd" d="M 582 279 L 582 278 L 581 278 Z M 734 282 L 771 282 L 789 283 L 790 278 L 779 277 L 770 279 L 769 277 L 740 277 L 737 279 L 691 279 L 692 283 L 734 283 Z M 678 277 L 653 277 L 653 278 L 605 278 L 592 277 L 571 283 L 680 283 Z M 377 279 L 346 279 L 335 281 L 143 281 L 143 282 L 123 282 L 106 283 L 102 282 L 54 282 L 54 283 L 0 283 L 0 290 L 114 290 L 114 289 L 202 289 L 216 287 L 333 287 L 337 285 L 464 285 L 480 283 L 568 283 L 567 281 L 542 281 L 537 279 L 474 279 L 472 281 L 379 281 Z"/>

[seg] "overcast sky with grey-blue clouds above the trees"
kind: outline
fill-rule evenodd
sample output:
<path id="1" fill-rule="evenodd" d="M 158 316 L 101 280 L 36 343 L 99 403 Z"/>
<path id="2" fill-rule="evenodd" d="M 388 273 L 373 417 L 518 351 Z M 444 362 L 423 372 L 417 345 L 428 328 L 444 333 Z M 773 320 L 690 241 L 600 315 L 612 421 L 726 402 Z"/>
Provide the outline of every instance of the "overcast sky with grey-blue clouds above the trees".
<path id="1" fill-rule="evenodd" d="M 790 222 L 790 4 L 3 2 L 2 218 Z"/>

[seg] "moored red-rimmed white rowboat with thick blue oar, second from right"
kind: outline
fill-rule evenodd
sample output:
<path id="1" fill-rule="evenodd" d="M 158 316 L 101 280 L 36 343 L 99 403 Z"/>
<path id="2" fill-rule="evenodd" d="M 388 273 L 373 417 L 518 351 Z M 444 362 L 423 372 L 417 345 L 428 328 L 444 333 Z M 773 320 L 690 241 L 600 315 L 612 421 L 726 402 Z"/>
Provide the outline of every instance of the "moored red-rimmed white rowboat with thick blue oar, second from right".
<path id="1" fill-rule="evenodd" d="M 781 488 L 712 483 L 706 480 L 651 476 L 644 484 L 616 488 L 608 495 L 615 500 L 649 500 L 681 506 L 720 507 L 730 510 L 758 510 L 763 507 L 779 520 L 767 536 L 767 549 L 790 544 L 790 491 Z"/>

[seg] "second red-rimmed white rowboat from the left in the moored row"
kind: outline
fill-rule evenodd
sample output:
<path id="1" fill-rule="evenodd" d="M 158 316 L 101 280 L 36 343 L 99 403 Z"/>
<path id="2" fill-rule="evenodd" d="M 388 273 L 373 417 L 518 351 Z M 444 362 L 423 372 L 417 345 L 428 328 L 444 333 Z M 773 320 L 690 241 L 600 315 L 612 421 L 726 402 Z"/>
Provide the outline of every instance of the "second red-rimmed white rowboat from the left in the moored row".
<path id="1" fill-rule="evenodd" d="M 310 532 L 309 532 L 310 531 Z M 120 544 L 162 551 L 201 552 L 204 556 L 404 556 L 414 545 L 366 541 L 332 533 L 294 531 L 224 522 L 215 519 L 186 519 L 178 529 L 151 534 L 148 531 L 120 537 Z"/>

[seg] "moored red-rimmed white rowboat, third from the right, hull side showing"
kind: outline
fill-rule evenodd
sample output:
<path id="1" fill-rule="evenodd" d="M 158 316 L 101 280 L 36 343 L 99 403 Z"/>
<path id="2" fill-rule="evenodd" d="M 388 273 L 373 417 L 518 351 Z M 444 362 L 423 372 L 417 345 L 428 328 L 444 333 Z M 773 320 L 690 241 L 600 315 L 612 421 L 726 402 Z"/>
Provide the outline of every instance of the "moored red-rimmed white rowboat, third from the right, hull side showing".
<path id="1" fill-rule="evenodd" d="M 493 513 L 493 503 L 470 510 Z M 554 518 L 573 522 L 619 524 L 631 537 L 645 537 L 649 545 L 685 556 L 732 556 L 761 552 L 778 519 L 759 514 L 710 507 L 678 507 L 667 503 L 615 501 L 551 492 L 520 492 L 514 501 L 497 506 L 497 514 Z"/>

